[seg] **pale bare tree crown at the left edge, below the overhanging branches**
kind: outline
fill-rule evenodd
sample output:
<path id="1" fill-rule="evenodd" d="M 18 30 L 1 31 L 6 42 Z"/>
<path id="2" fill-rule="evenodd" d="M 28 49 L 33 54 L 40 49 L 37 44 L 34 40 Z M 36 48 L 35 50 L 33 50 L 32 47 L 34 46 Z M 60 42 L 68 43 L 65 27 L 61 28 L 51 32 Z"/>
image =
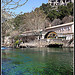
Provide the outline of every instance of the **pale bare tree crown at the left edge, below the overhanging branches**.
<path id="1" fill-rule="evenodd" d="M 1 37 L 2 37 L 2 42 L 4 43 L 4 37 L 10 35 L 12 30 L 14 29 L 12 20 L 8 20 L 2 23 L 1 26 Z"/>

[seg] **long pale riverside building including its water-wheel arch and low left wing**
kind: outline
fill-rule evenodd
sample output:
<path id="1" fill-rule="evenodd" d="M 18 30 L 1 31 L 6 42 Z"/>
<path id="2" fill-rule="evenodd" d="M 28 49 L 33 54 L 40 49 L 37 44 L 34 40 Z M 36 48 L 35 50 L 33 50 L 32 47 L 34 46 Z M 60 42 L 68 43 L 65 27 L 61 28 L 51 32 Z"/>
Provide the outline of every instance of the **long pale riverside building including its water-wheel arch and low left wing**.
<path id="1" fill-rule="evenodd" d="M 27 39 L 31 40 L 31 36 L 34 37 L 32 41 L 45 40 L 45 39 L 71 40 L 74 36 L 74 22 L 48 27 L 45 30 L 26 31 L 22 33 L 20 36 L 23 38 L 22 40 L 24 41 L 25 38 L 26 40 Z"/>

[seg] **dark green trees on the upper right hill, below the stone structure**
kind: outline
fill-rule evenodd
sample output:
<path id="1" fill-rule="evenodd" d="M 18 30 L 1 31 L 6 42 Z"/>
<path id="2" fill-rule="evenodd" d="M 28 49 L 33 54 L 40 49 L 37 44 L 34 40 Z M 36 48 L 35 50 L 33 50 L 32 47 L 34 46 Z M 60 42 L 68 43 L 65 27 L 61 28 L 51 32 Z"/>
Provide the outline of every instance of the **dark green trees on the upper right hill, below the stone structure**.
<path id="1" fill-rule="evenodd" d="M 42 4 L 40 9 L 44 11 L 51 21 L 54 19 L 63 19 L 65 16 L 73 15 L 73 3 L 68 3 L 67 6 L 51 7 L 49 4 Z"/>

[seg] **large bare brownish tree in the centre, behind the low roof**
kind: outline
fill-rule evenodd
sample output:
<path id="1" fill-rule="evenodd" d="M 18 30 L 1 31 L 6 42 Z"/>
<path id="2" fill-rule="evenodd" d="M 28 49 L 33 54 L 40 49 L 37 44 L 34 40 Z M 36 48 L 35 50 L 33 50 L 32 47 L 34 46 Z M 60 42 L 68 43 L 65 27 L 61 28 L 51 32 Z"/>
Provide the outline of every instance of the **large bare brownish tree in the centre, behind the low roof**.
<path id="1" fill-rule="evenodd" d="M 25 18 L 24 18 L 25 17 Z M 36 8 L 31 13 L 23 15 L 23 25 L 20 25 L 19 30 L 40 30 L 49 26 L 49 21 L 46 19 L 46 15 L 40 8 Z"/>

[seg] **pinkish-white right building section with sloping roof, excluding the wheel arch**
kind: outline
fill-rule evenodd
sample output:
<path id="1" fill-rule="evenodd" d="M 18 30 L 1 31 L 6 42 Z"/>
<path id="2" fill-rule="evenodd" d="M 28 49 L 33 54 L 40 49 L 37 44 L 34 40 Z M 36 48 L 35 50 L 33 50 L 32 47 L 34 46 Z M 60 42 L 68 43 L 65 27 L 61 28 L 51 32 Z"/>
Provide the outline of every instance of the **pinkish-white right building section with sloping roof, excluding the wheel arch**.
<path id="1" fill-rule="evenodd" d="M 44 39 L 45 35 L 50 31 L 57 33 L 58 38 L 65 38 L 66 40 L 70 40 L 74 36 L 74 22 L 46 28 L 42 33 L 42 39 Z"/>

